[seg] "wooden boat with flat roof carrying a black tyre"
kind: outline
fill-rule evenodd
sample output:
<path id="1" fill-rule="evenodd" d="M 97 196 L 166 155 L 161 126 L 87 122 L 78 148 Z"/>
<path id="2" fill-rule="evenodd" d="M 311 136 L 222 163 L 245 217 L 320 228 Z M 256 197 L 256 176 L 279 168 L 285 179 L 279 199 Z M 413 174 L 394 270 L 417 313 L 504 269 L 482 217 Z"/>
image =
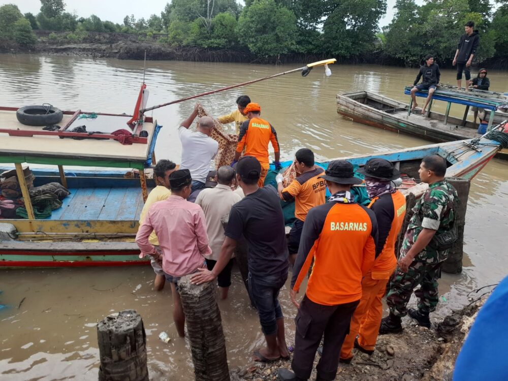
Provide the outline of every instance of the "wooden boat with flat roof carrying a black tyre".
<path id="1" fill-rule="evenodd" d="M 140 91 L 140 99 L 142 97 Z M 138 100 L 137 108 L 140 108 Z M 0 163 L 16 168 L 28 219 L 0 219 L 12 224 L 18 239 L 0 242 L 1 267 L 119 266 L 149 263 L 139 258 L 134 241 L 138 219 L 153 180 L 145 176 L 161 126 L 150 117 L 130 124 L 134 141 L 123 145 L 112 134 L 129 129 L 129 115 L 64 112 L 58 131 L 21 124 L 16 108 L 0 108 Z M 136 114 L 136 113 L 135 113 Z M 85 119 L 79 119 L 84 115 Z M 88 131 L 72 132 L 85 124 Z M 128 131 L 129 133 L 129 131 Z M 60 137 L 65 137 L 60 139 Z M 82 140 L 69 139 L 69 137 Z M 103 138 L 101 140 L 90 139 Z M 84 138 L 84 139 L 83 139 Z M 60 182 L 71 191 L 63 205 L 46 219 L 35 219 L 22 164 L 44 164 L 34 170 L 34 185 Z M 68 166 L 124 169 L 70 170 Z M 66 167 L 66 168 L 64 168 Z M 139 170 L 139 178 L 124 178 L 125 169 Z M 1 171 L 1 169 L 0 169 Z"/>

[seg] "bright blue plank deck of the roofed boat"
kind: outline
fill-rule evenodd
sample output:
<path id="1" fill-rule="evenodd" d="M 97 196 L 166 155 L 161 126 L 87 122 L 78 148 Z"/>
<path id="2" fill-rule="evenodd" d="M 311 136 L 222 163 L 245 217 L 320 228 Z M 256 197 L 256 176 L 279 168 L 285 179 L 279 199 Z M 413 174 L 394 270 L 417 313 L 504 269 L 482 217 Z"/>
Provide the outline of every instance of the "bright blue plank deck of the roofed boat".
<path id="1" fill-rule="evenodd" d="M 141 188 L 70 188 L 62 206 L 53 210 L 52 220 L 139 220 L 143 209 Z"/>

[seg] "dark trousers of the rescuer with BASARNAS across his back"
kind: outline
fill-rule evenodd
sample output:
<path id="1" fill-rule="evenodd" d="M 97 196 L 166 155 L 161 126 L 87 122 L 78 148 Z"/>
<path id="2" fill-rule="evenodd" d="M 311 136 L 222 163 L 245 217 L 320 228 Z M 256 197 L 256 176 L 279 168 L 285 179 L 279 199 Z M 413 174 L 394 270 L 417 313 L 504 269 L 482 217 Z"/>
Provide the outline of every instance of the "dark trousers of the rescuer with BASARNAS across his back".
<path id="1" fill-rule="evenodd" d="M 344 338 L 349 333 L 351 317 L 359 300 L 325 306 L 312 302 L 307 296 L 303 297 L 295 318 L 295 352 L 291 367 L 296 376 L 308 379 L 312 372 L 312 365 L 317 347 L 323 339 L 323 356 L 317 363 L 317 378 L 333 380 L 339 366 L 340 348 Z"/>

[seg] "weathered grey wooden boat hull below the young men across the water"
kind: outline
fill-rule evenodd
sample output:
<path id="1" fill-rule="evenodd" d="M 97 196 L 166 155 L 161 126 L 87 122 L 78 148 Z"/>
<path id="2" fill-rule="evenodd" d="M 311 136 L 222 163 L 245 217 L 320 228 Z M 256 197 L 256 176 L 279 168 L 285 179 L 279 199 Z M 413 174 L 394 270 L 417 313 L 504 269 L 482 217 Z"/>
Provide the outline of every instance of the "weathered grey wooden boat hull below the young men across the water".
<path id="1" fill-rule="evenodd" d="M 409 107 L 407 103 L 369 91 L 337 94 L 337 113 L 359 123 L 434 142 L 474 139 L 480 136 L 478 125 L 466 120 L 467 112 L 459 119 L 448 115 L 449 107 L 447 114 L 437 113 L 429 107 L 426 115 L 409 113 Z M 498 157 L 508 158 L 508 150 L 501 150 Z"/>

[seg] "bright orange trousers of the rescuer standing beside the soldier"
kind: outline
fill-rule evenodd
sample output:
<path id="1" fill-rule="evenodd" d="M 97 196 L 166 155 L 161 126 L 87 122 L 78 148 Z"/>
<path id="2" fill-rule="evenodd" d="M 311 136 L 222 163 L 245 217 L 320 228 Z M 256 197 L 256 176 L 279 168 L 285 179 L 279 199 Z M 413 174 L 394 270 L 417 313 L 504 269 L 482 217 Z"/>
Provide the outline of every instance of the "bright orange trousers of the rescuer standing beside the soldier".
<path id="1" fill-rule="evenodd" d="M 386 275 L 388 274 L 388 276 Z M 353 357 L 353 347 L 355 346 L 355 338 L 362 348 L 373 351 L 376 345 L 379 326 L 383 317 L 382 299 L 385 296 L 386 285 L 388 283 L 391 272 L 375 273 L 369 271 L 362 280 L 362 299 L 356 307 L 355 313 L 351 319 L 350 333 L 344 339 L 340 350 L 341 359 L 349 359 Z M 386 279 L 373 278 L 386 277 Z"/>

